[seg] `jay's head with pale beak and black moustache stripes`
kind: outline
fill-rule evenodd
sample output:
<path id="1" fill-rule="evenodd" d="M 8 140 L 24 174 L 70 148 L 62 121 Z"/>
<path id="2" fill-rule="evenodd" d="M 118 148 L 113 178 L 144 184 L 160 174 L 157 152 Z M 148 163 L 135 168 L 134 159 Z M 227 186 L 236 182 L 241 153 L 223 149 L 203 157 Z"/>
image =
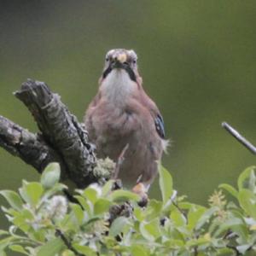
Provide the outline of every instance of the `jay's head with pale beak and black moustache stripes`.
<path id="1" fill-rule="evenodd" d="M 105 58 L 102 79 L 106 79 L 113 71 L 125 71 L 133 82 L 137 82 L 137 54 L 133 49 L 111 49 Z"/>

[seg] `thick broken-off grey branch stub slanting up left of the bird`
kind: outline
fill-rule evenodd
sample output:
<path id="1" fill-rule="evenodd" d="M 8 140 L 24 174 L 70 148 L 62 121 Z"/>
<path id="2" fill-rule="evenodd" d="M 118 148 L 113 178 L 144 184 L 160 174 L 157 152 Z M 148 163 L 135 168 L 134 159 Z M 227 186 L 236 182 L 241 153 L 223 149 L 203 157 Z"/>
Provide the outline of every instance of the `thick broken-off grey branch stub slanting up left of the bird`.
<path id="1" fill-rule="evenodd" d="M 60 155 L 68 177 L 80 188 L 91 183 L 96 158 L 87 133 L 44 82 L 27 79 L 15 96 L 32 113 L 44 140 Z M 95 180 L 96 181 L 96 180 Z"/>

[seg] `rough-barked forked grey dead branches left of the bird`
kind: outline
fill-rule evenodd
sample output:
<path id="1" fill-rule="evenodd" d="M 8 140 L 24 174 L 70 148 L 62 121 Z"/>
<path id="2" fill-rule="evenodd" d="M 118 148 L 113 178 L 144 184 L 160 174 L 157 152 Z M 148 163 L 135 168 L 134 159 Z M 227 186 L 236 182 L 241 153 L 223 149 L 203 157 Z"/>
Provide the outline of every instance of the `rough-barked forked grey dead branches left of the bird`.
<path id="1" fill-rule="evenodd" d="M 79 188 L 96 181 L 94 146 L 88 142 L 84 126 L 52 93 L 44 82 L 27 79 L 15 96 L 32 113 L 40 134 L 33 134 L 9 119 L 0 119 L 0 146 L 19 156 L 41 172 L 51 161 L 61 164 L 62 177 Z"/>

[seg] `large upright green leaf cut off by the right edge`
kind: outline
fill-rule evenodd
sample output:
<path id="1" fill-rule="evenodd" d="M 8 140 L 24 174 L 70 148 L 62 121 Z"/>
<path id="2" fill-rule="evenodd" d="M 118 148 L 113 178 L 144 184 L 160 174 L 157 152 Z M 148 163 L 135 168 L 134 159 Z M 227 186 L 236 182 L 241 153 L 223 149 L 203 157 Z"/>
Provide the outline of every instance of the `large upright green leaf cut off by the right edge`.
<path id="1" fill-rule="evenodd" d="M 238 201 L 242 209 L 256 219 L 256 195 L 251 190 L 241 189 L 238 194 Z"/>

